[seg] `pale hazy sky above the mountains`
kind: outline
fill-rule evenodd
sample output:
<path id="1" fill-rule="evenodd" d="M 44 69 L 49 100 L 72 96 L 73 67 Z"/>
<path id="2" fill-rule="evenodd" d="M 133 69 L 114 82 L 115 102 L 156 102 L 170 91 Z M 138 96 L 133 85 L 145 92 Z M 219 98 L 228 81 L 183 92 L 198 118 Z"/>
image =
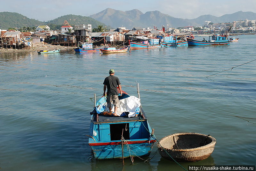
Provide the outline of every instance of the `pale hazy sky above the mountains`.
<path id="1" fill-rule="evenodd" d="M 143 13 L 157 10 L 176 18 L 194 19 L 205 14 L 220 17 L 237 11 L 256 13 L 256 0 L 0 0 L 0 12 L 18 12 L 40 21 L 55 19 L 67 14 L 89 16 L 106 8 L 121 11 L 138 9 Z"/>

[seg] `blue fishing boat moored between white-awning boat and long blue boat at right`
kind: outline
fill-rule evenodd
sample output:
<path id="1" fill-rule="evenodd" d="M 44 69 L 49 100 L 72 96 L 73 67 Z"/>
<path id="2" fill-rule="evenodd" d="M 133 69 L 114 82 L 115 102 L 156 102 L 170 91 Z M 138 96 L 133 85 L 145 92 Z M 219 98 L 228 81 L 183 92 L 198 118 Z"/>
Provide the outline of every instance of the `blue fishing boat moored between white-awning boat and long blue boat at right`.
<path id="1" fill-rule="evenodd" d="M 161 44 L 166 47 L 179 47 L 188 46 L 188 41 L 182 39 L 179 40 L 177 35 L 168 35 L 163 37 Z"/>

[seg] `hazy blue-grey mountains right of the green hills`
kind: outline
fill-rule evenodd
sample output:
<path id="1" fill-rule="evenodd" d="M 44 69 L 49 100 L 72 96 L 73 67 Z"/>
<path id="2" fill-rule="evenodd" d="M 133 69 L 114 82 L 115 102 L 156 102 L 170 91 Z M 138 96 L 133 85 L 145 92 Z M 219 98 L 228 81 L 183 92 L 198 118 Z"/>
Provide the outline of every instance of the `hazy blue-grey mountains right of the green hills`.
<path id="1" fill-rule="evenodd" d="M 169 24 L 170 27 L 182 26 L 202 26 L 204 22 L 212 21 L 213 23 L 233 22 L 239 19 L 256 19 L 256 13 L 238 11 L 233 14 L 225 14 L 220 17 L 213 15 L 202 15 L 196 19 L 181 19 L 175 18 L 168 14 L 163 14 L 160 11 L 148 11 L 146 13 L 134 9 L 131 11 L 120 11 L 112 8 L 107 8 L 89 17 L 101 21 L 114 28 L 125 26 L 132 28 L 133 26 L 148 27 L 157 26 L 160 28 L 162 25 Z"/>

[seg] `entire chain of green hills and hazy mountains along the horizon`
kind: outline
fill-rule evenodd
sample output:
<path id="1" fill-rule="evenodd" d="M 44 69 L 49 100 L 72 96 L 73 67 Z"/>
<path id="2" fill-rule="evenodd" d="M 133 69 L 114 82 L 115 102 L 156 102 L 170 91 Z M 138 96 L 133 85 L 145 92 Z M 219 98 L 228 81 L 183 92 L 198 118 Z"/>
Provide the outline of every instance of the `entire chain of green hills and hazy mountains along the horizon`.
<path id="1" fill-rule="evenodd" d="M 211 21 L 213 23 L 221 22 L 233 22 L 239 19 L 256 19 L 256 13 L 238 11 L 233 14 L 225 14 L 220 17 L 213 15 L 202 15 L 196 19 L 181 19 L 175 18 L 168 14 L 161 13 L 160 11 L 148 11 L 146 13 L 140 10 L 133 9 L 130 11 L 120 11 L 111 8 L 107 8 L 89 17 L 81 15 L 65 15 L 56 19 L 43 22 L 36 19 L 29 19 L 28 17 L 16 12 L 0 12 L 0 29 L 20 28 L 24 26 L 38 26 L 49 25 L 51 28 L 60 28 L 63 25 L 64 20 L 72 26 L 75 24 L 92 24 L 92 28 L 97 28 L 99 25 L 107 26 L 107 28 L 117 28 L 124 26 L 131 29 L 134 26 L 139 27 L 151 27 L 157 26 L 161 28 L 162 25 L 169 27 L 182 27 L 182 26 L 202 26 L 205 21 Z"/>

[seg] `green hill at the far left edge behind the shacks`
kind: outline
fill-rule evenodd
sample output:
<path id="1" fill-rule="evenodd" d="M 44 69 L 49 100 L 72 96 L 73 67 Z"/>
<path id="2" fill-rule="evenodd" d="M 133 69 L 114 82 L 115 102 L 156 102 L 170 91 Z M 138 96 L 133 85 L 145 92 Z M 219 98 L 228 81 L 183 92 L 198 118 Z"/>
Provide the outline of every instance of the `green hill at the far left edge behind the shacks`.
<path id="1" fill-rule="evenodd" d="M 44 25 L 44 22 L 38 21 L 36 19 L 29 19 L 28 17 L 21 15 L 17 12 L 0 12 L 0 28 L 8 29 L 28 27 L 28 26 L 38 26 Z"/>

